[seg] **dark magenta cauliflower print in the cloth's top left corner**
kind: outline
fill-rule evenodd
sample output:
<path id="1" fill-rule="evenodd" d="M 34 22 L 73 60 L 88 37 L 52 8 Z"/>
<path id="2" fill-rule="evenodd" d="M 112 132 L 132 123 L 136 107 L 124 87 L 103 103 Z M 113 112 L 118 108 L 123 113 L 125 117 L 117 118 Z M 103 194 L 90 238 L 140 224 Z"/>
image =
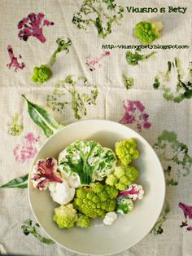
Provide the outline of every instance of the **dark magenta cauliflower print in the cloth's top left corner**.
<path id="1" fill-rule="evenodd" d="M 27 41 L 29 37 L 37 38 L 40 42 L 46 42 L 46 38 L 42 33 L 42 28 L 44 26 L 52 26 L 53 22 L 49 20 L 43 20 L 43 13 L 30 13 L 27 17 L 24 17 L 23 20 L 17 25 L 17 28 L 20 29 L 20 33 L 18 33 L 18 37 L 20 40 Z"/>

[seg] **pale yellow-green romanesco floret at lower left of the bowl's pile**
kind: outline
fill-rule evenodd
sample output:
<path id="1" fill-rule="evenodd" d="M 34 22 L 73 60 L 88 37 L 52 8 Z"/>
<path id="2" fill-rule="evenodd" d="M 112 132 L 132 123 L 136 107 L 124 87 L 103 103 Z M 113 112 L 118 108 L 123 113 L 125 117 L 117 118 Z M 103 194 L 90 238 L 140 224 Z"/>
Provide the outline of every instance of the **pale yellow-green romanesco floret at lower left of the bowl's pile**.
<path id="1" fill-rule="evenodd" d="M 77 221 L 77 214 L 73 205 L 61 205 L 60 207 L 55 208 L 53 221 L 58 224 L 59 228 L 73 227 L 74 223 Z"/>

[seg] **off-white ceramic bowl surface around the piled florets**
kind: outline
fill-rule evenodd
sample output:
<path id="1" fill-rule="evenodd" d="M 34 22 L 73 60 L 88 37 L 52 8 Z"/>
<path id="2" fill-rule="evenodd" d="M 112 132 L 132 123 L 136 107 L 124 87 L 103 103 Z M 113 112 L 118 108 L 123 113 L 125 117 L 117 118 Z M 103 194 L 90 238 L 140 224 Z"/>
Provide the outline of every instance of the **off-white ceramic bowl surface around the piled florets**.
<path id="1" fill-rule="evenodd" d="M 105 226 L 102 219 L 94 219 L 89 228 L 59 229 L 52 221 L 54 209 L 59 205 L 52 201 L 50 192 L 38 191 L 28 179 L 28 198 L 33 214 L 46 234 L 59 245 L 80 254 L 115 254 L 142 240 L 155 225 L 164 204 L 164 172 L 151 145 L 127 126 L 104 120 L 72 123 L 46 140 L 37 152 L 33 165 L 40 158 L 57 158 L 59 152 L 76 139 L 94 139 L 114 149 L 117 141 L 128 138 L 137 141 L 141 156 L 133 165 L 140 170 L 137 183 L 142 184 L 145 195 L 142 201 L 136 201 L 130 214 L 120 214 L 111 226 Z"/>

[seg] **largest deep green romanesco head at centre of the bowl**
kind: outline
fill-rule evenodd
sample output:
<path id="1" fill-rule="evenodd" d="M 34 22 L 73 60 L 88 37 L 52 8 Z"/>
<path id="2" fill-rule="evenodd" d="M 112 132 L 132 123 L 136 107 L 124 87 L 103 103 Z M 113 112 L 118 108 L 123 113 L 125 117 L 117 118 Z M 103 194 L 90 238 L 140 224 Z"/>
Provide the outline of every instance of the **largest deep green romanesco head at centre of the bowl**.
<path id="1" fill-rule="evenodd" d="M 74 207 L 89 218 L 104 218 L 108 211 L 116 209 L 118 190 L 109 185 L 91 183 L 90 187 L 76 189 Z"/>

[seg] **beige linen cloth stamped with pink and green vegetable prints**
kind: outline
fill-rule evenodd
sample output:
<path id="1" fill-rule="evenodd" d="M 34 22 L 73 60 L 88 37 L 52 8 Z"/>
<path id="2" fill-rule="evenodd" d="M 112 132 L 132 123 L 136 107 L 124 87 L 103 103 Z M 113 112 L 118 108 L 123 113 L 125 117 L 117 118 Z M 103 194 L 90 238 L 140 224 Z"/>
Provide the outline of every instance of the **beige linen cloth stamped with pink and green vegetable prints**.
<path id="1" fill-rule="evenodd" d="M 192 99 L 189 67 L 192 61 L 192 4 L 184 0 L 150 0 L 147 7 L 165 7 L 166 13 L 141 14 L 129 13 L 126 7 L 146 7 L 146 1 L 116 0 L 113 2 L 115 9 L 109 6 L 107 14 L 112 17 L 112 13 L 120 12 L 111 20 L 109 29 L 103 18 L 109 1 L 99 0 L 104 19 L 103 30 L 99 30 L 93 23 L 86 29 L 78 27 L 74 16 L 79 16 L 82 2 L 84 0 L 0 2 L 0 186 L 24 176 L 33 155 L 46 140 L 28 116 L 22 94 L 44 106 L 63 125 L 78 118 L 120 121 L 138 131 L 155 148 L 166 174 L 167 193 L 164 210 L 153 231 L 137 245 L 117 255 L 140 256 L 141 252 L 142 256 L 191 255 Z M 187 10 L 185 14 L 168 13 L 170 6 L 187 7 Z M 95 13 L 92 16 L 97 18 Z M 129 50 L 104 47 L 109 44 L 140 45 L 137 38 L 133 38 L 133 27 L 141 20 L 161 20 L 164 24 L 162 37 L 155 41 L 156 45 L 189 45 L 190 48 L 155 49 L 155 55 L 132 66 L 125 59 Z M 33 68 L 49 62 L 57 38 L 63 37 L 72 41 L 68 54 L 60 51 L 51 67 L 53 77 L 38 86 L 30 79 Z M 151 51 L 142 50 L 141 54 L 147 55 Z M 173 68 L 175 58 L 181 60 L 185 75 L 175 66 Z M 170 81 L 164 81 L 168 61 L 172 63 L 172 71 Z M 61 81 L 70 76 L 75 86 L 68 82 L 65 86 L 56 86 L 62 85 Z M 155 77 L 159 79 L 158 88 L 154 86 L 158 82 Z M 82 79 L 86 79 L 89 86 L 84 86 Z M 176 101 L 178 95 L 185 93 L 182 88 L 177 88 L 178 81 L 185 84 L 189 94 L 188 98 Z M 51 101 L 48 101 L 49 95 Z M 172 99 L 168 99 L 170 95 Z M 26 189 L 3 188 L 0 196 L 0 254 L 76 255 L 59 245 L 44 245 L 35 236 L 24 236 L 21 231 L 24 221 L 32 219 L 33 225 L 36 223 Z M 46 236 L 41 228 L 37 227 L 37 230 Z"/>

